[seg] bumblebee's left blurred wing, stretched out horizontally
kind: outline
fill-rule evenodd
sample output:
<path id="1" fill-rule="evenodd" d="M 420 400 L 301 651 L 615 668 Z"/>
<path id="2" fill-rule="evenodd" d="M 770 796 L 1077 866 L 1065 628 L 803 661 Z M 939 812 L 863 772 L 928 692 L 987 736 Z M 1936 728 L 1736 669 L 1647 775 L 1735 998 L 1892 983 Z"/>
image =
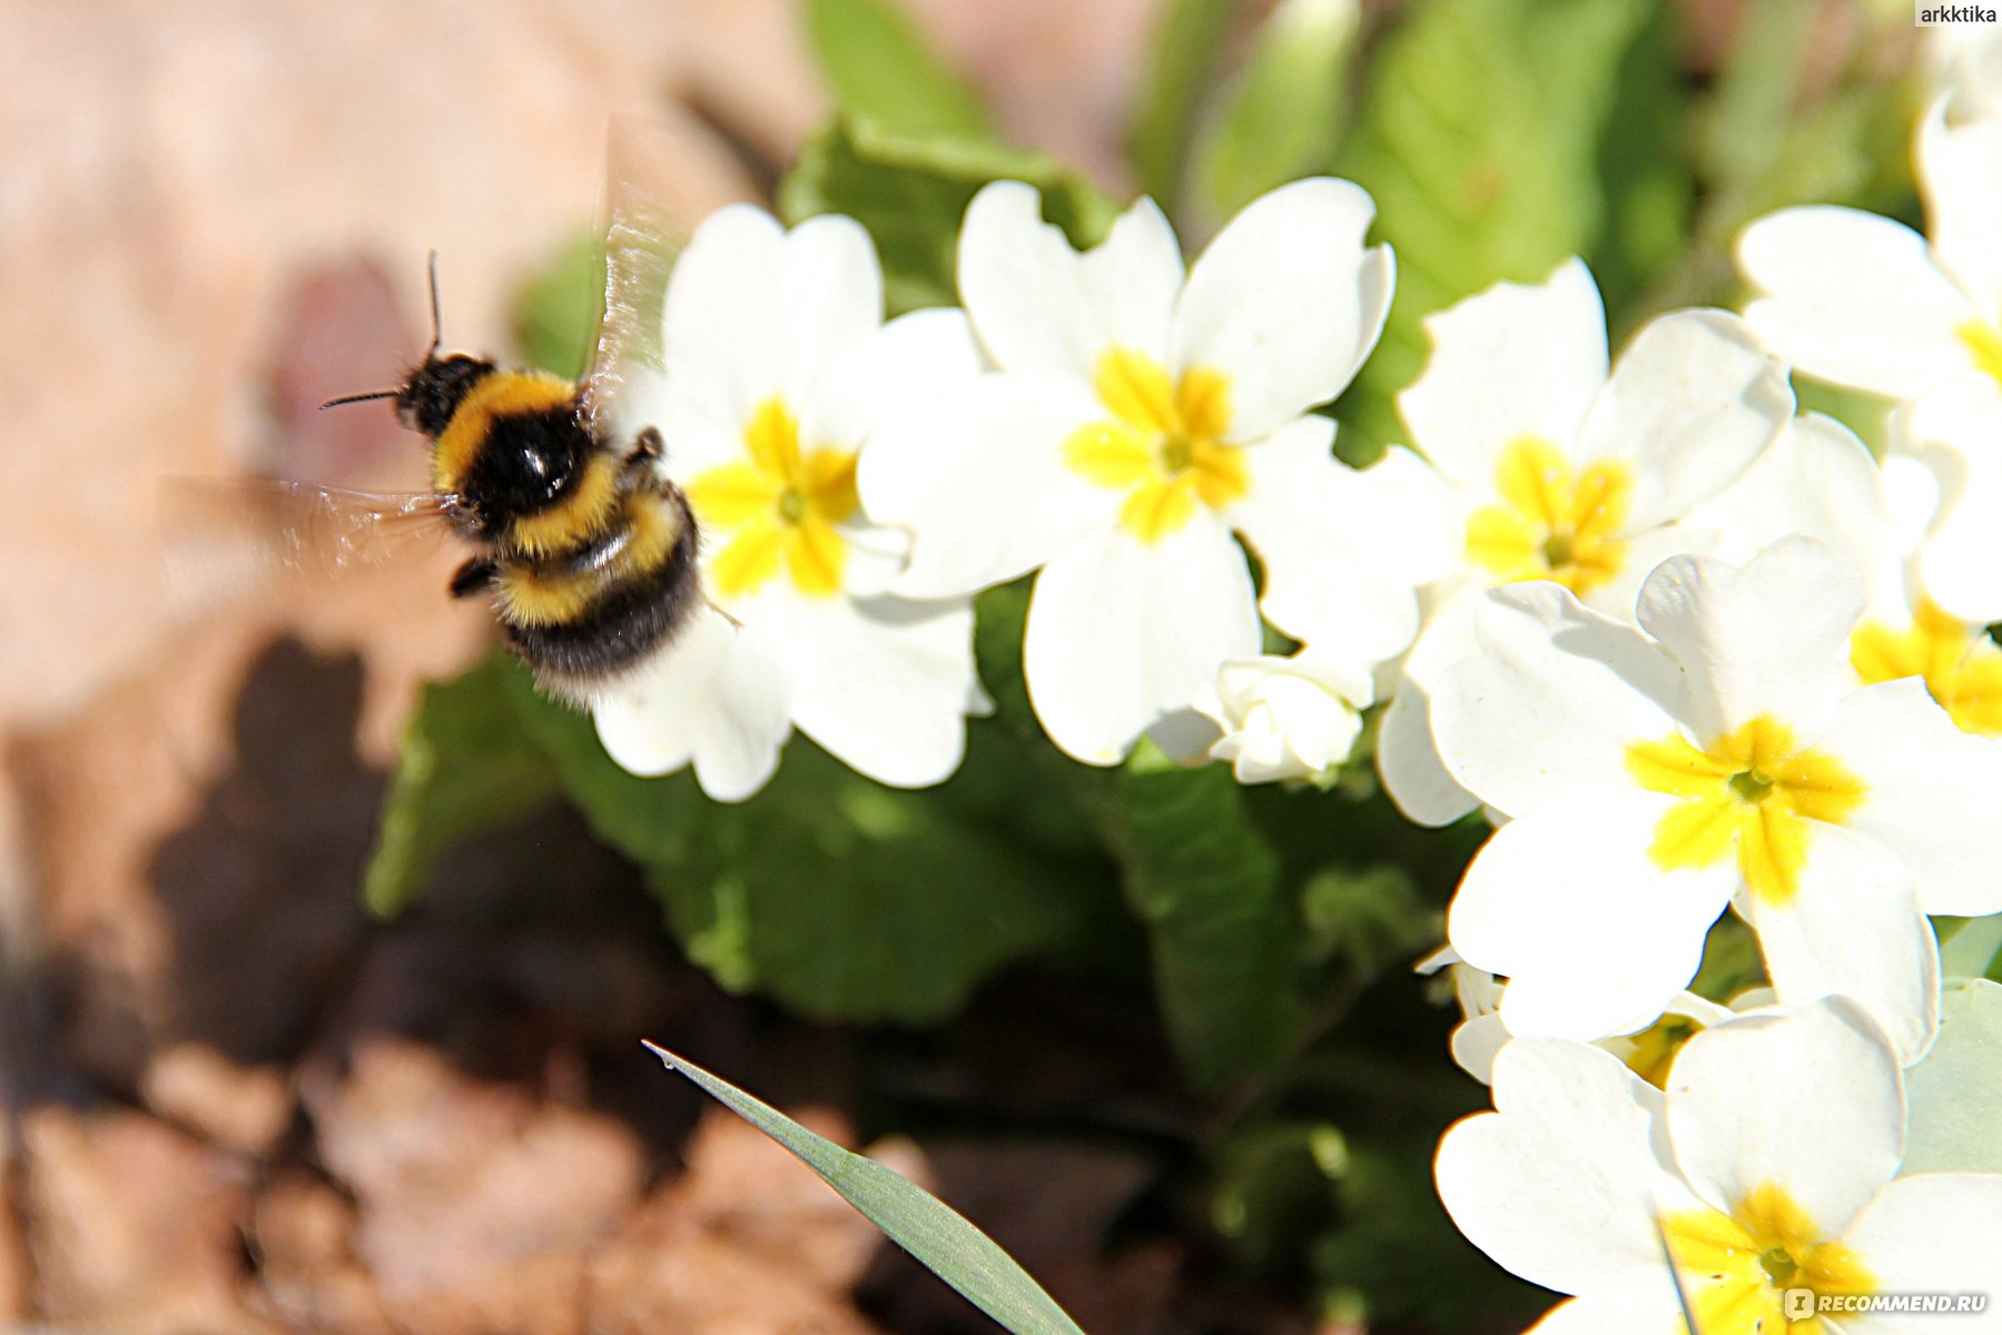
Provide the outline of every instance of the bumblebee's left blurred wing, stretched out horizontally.
<path id="1" fill-rule="evenodd" d="M 164 478 L 166 572 L 182 592 L 248 592 L 290 574 L 420 560 L 450 532 L 452 496 L 282 478 Z"/>

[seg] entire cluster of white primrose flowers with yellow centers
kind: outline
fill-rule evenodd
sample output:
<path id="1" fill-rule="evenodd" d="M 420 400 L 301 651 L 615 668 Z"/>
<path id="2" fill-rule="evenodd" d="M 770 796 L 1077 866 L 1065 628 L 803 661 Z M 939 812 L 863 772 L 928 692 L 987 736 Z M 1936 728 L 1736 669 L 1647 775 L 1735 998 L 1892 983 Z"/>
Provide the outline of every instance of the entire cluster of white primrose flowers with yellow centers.
<path id="1" fill-rule="evenodd" d="M 2002 1175 L 1892 1177 L 1928 915 L 2002 911 L 2002 118 L 1942 102 L 1920 178 L 1930 238 L 1776 214 L 1744 316 L 1664 314 L 1618 358 L 1578 260 L 1433 316 L 1409 448 L 1369 468 L 1317 412 L 1395 280 L 1349 182 L 1259 198 L 1187 266 L 1149 200 L 1077 252 L 997 182 L 963 308 L 889 324 L 861 226 L 725 210 L 669 290 L 661 426 L 727 618 L 601 737 L 719 799 L 793 727 L 937 783 L 987 705 L 971 598 L 1025 574 L 1029 697 L 1077 761 L 1151 735 L 1327 777 L 1381 707 L 1399 809 L 1499 827 L 1447 921 L 1499 1111 L 1437 1173 L 1475 1243 L 1578 1295 L 1540 1329 L 1668 1329 L 1656 1221 L 1706 1335 L 1834 1329 L 1780 1323 L 1788 1279 L 1994 1281 Z M 1894 396 L 1886 456 L 1796 416 L 1790 368 Z M 1726 907 L 1768 1009 L 1684 991 Z M 1954 1329 L 2002 1329 L 1994 1297 Z"/>

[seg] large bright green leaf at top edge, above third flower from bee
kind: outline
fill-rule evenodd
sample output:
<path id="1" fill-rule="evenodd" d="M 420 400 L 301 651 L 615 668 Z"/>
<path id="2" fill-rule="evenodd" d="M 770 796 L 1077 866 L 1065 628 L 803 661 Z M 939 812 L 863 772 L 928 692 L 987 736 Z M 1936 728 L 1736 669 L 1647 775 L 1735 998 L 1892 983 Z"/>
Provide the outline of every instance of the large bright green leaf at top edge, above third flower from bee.
<path id="1" fill-rule="evenodd" d="M 1656 0 L 1431 0 L 1371 66 L 1337 170 L 1369 188 L 1397 252 L 1383 342 L 1339 404 L 1399 440 L 1393 396 L 1425 358 L 1421 316 L 1590 254 L 1610 208 L 1600 154 L 1628 50 Z"/>

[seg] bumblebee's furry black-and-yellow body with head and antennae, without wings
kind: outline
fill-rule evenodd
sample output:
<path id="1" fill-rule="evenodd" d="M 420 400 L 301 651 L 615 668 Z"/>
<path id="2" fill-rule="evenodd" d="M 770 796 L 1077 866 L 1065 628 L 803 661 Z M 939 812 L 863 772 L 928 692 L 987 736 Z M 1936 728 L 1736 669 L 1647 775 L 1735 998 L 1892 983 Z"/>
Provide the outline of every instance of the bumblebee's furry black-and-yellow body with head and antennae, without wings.
<path id="1" fill-rule="evenodd" d="M 324 406 L 394 398 L 430 438 L 430 508 L 474 548 L 452 596 L 490 596 L 543 689 L 589 703 L 703 602 L 695 514 L 661 466 L 661 432 L 615 434 L 599 376 L 438 356 L 434 266 L 430 290 L 432 346 L 404 382 Z"/>

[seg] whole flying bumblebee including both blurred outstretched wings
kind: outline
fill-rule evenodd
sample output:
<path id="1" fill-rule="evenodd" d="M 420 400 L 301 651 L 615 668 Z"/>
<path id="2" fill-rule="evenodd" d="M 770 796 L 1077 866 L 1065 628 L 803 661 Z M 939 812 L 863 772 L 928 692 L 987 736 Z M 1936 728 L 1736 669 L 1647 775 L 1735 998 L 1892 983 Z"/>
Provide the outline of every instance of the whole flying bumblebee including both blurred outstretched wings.
<path id="1" fill-rule="evenodd" d="M 695 512 L 663 466 L 661 432 L 629 420 L 621 396 L 661 374 L 669 250 L 667 228 L 637 190 L 643 150 L 643 140 L 615 134 L 605 308 L 581 382 L 464 352 L 440 356 L 432 256 L 422 362 L 394 388 L 320 404 L 394 400 L 396 418 L 430 440 L 430 490 L 234 478 L 182 484 L 180 500 L 194 492 L 212 516 L 208 528 L 248 536 L 266 574 L 386 564 L 406 550 L 402 534 L 450 530 L 472 548 L 450 594 L 490 598 L 537 683 L 577 705 L 589 707 L 667 648 L 715 604 L 701 590 Z"/>

